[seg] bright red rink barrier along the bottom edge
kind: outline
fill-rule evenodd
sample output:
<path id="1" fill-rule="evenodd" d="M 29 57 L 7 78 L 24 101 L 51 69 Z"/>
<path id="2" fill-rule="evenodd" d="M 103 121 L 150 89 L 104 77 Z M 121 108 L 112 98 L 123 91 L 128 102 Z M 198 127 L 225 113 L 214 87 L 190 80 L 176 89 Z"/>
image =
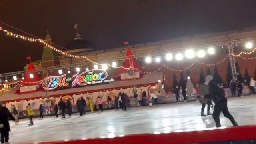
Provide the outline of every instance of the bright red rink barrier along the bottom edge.
<path id="1" fill-rule="evenodd" d="M 256 126 L 237 126 L 214 130 L 171 132 L 168 134 L 133 134 L 114 138 L 90 138 L 86 140 L 42 142 L 40 144 L 191 144 L 255 138 Z"/>

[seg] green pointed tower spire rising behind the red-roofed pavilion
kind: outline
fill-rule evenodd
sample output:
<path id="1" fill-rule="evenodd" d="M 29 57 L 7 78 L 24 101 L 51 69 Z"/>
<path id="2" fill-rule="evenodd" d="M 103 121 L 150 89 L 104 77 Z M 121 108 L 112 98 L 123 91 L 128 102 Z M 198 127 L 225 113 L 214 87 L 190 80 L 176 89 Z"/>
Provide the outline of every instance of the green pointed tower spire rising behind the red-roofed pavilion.
<path id="1" fill-rule="evenodd" d="M 44 41 L 47 44 L 52 45 L 52 38 L 48 31 L 47 31 L 47 35 L 46 35 L 46 38 Z M 48 67 L 48 66 L 56 66 L 56 65 L 59 65 L 57 53 L 53 52 L 53 50 L 52 50 L 52 48 L 50 48 L 50 46 L 44 46 L 42 62 L 41 62 L 42 68 Z"/>

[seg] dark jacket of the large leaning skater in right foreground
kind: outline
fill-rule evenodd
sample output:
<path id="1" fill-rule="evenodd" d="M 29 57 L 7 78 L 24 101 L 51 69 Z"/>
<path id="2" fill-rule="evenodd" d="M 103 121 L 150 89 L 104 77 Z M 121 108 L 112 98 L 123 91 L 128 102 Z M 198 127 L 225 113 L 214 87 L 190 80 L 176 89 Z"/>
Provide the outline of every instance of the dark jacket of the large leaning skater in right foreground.
<path id="1" fill-rule="evenodd" d="M 225 91 L 223 90 L 223 88 L 220 88 L 218 84 L 213 82 L 213 80 L 209 82 L 208 87 L 210 92 L 209 96 L 210 98 L 212 98 L 214 103 L 227 102 L 227 98 L 225 98 Z M 208 96 L 206 96 L 206 98 L 207 97 Z"/>

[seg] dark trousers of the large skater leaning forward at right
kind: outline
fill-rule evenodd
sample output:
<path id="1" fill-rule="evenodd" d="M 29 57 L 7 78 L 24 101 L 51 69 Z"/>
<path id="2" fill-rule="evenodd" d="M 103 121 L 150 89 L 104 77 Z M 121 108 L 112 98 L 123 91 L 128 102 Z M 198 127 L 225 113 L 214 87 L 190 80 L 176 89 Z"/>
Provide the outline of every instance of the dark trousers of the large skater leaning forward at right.
<path id="1" fill-rule="evenodd" d="M 220 124 L 220 112 L 223 113 L 223 115 L 228 118 L 232 124 L 234 125 L 236 123 L 236 121 L 234 120 L 233 116 L 229 113 L 228 111 L 228 105 L 227 105 L 227 102 L 217 102 L 215 103 L 215 106 L 214 106 L 214 111 L 213 111 L 213 114 L 212 114 L 212 117 L 215 121 L 215 124 L 216 124 L 216 127 L 221 127 L 221 124 Z"/>

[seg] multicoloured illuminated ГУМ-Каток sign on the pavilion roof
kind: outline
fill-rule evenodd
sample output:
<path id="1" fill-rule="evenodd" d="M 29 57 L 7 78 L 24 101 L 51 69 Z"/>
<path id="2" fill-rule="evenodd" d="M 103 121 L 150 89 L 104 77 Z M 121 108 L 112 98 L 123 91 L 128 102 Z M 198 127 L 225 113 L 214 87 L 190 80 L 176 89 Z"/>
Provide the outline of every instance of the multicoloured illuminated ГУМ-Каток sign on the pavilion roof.
<path id="1" fill-rule="evenodd" d="M 106 80 L 106 78 L 108 78 L 108 72 L 106 72 L 106 70 L 93 69 L 80 74 L 78 72 L 74 74 L 72 78 L 67 78 L 66 74 L 61 76 L 49 76 L 47 78 L 48 82 L 44 82 L 42 85 L 46 90 L 54 90 L 60 87 L 86 86 L 114 81 L 114 79 Z"/>

